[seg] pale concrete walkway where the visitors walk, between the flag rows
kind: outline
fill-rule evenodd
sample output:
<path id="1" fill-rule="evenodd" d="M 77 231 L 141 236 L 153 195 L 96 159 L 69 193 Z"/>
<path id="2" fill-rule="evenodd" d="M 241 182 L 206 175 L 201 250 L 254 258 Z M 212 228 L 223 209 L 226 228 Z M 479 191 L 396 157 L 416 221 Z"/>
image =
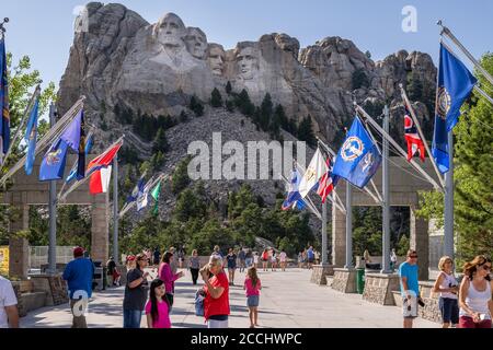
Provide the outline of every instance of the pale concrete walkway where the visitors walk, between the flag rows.
<path id="1" fill-rule="evenodd" d="M 193 285 L 190 272 L 179 280 L 175 304 L 171 315 L 173 327 L 202 328 L 204 318 L 195 316 L 194 296 L 198 285 Z M 381 306 L 362 300 L 358 294 L 343 294 L 329 287 L 310 283 L 311 271 L 288 269 L 285 272 L 260 272 L 263 290 L 259 323 L 261 328 L 400 328 L 401 310 Z M 244 275 L 236 276 L 230 287 L 231 316 L 229 326 L 246 328 L 250 325 L 246 299 L 242 289 Z M 89 306 L 88 325 L 91 328 L 122 327 L 123 288 L 95 293 Z M 21 327 L 70 327 L 71 314 L 68 305 L 44 307 L 21 318 Z M 438 328 L 440 325 L 422 318 L 415 320 L 416 328 Z M 146 327 L 142 317 L 142 327 Z"/>

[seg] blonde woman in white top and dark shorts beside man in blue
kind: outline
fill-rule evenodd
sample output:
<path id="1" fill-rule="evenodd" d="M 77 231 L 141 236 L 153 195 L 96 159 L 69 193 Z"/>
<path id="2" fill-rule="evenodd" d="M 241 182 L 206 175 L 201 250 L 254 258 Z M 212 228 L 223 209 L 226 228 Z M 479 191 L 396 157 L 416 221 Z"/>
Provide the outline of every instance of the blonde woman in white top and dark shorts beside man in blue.
<path id="1" fill-rule="evenodd" d="M 438 305 L 442 314 L 443 328 L 455 327 L 459 324 L 458 296 L 459 283 L 454 276 L 454 261 L 449 256 L 443 256 L 438 261 L 440 275 L 433 287 L 434 293 L 440 293 Z"/>

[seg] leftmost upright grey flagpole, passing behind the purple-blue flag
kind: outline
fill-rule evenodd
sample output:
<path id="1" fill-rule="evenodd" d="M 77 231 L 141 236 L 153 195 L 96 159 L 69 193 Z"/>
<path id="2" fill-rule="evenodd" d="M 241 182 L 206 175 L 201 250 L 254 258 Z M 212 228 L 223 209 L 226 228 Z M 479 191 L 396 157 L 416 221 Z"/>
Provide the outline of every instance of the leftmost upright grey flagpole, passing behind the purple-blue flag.
<path id="1" fill-rule="evenodd" d="M 49 126 L 56 124 L 55 104 L 49 105 Z M 50 180 L 49 184 L 49 246 L 48 246 L 48 273 L 55 275 L 57 271 L 57 182 Z"/>

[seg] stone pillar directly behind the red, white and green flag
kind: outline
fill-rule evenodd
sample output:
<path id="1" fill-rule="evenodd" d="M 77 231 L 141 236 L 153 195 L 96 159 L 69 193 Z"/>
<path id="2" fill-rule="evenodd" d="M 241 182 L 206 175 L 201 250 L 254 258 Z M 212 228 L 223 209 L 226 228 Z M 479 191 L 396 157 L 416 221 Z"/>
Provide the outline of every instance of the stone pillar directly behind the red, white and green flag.
<path id="1" fill-rule="evenodd" d="M 105 196 L 106 200 L 94 200 L 91 208 L 91 258 L 106 264 L 110 254 L 110 208 L 108 194 L 98 195 Z"/>

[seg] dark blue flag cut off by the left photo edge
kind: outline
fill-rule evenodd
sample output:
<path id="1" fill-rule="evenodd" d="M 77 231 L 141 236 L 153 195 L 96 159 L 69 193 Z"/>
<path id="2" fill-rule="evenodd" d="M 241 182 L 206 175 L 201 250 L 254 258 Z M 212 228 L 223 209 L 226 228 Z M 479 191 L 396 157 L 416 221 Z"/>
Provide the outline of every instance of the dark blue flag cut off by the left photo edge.
<path id="1" fill-rule="evenodd" d="M 7 79 L 7 51 L 3 37 L 0 39 L 0 165 L 10 148 L 9 82 Z"/>

